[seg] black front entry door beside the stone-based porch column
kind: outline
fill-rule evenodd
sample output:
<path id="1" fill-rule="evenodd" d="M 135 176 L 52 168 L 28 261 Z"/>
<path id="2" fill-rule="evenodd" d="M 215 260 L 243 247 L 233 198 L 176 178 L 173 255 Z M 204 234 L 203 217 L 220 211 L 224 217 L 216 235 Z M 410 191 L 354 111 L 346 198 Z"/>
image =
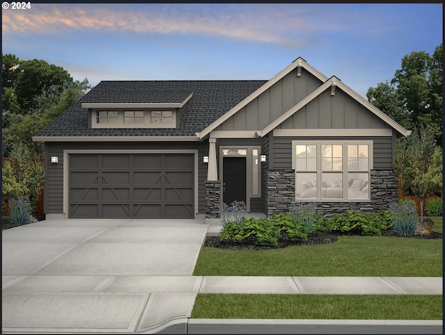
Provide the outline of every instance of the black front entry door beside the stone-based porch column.
<path id="1" fill-rule="evenodd" d="M 234 201 L 246 203 L 245 171 L 245 157 L 223 158 L 223 202 L 226 204 Z"/>

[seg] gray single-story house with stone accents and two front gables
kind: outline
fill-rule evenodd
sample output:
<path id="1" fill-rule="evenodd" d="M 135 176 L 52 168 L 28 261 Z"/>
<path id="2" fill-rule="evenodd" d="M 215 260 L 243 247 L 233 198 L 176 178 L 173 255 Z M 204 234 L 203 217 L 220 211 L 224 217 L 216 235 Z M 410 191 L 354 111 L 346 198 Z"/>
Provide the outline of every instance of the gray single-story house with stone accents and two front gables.
<path id="1" fill-rule="evenodd" d="M 298 58 L 269 81 L 102 81 L 33 140 L 47 218 L 218 218 L 385 209 L 409 135 Z"/>

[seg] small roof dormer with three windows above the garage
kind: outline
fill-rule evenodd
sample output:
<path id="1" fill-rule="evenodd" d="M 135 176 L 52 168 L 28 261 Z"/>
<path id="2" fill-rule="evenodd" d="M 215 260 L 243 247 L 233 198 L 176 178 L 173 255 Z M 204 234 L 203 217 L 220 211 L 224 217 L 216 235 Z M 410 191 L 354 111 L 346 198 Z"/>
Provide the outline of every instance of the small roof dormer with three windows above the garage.
<path id="1" fill-rule="evenodd" d="M 170 93 L 170 94 L 169 94 Z M 193 92 L 163 92 L 158 102 L 85 102 L 88 128 L 179 128 L 181 108 Z M 152 100 L 151 99 L 151 100 Z"/>

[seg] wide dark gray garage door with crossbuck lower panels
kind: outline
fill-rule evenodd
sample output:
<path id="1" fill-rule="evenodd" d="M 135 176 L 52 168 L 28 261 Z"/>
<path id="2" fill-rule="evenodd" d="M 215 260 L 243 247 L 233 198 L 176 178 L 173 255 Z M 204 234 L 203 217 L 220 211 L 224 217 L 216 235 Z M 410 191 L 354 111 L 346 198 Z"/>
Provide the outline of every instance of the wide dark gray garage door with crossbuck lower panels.
<path id="1" fill-rule="evenodd" d="M 69 218 L 194 218 L 192 154 L 71 154 Z"/>

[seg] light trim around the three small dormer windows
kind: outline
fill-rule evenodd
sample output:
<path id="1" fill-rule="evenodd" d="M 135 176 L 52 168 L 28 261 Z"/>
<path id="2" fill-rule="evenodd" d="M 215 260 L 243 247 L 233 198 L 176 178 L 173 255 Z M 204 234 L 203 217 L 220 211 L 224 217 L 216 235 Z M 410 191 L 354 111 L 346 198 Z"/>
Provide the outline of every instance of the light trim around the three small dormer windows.
<path id="1" fill-rule="evenodd" d="M 118 112 L 118 123 L 98 123 L 98 112 L 115 111 Z M 124 112 L 128 111 L 143 111 L 145 113 L 144 123 L 124 123 Z M 171 111 L 172 123 L 152 123 L 152 111 Z M 177 109 L 176 108 L 95 108 L 90 111 L 90 122 L 92 129 L 159 129 L 159 128 L 176 128 L 177 127 Z"/>

